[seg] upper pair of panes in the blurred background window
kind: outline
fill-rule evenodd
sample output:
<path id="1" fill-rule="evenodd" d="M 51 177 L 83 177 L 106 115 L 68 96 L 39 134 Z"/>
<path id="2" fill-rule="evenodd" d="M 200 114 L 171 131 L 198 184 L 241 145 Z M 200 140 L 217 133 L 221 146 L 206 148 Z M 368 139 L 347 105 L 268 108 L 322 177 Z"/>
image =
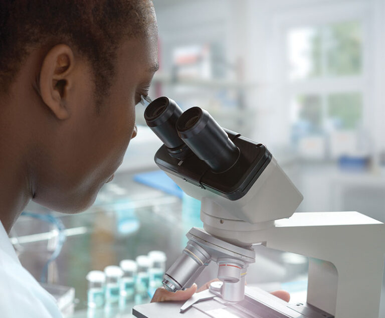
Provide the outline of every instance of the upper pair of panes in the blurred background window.
<path id="1" fill-rule="evenodd" d="M 362 24 L 339 22 L 287 33 L 289 80 L 362 72 Z"/>

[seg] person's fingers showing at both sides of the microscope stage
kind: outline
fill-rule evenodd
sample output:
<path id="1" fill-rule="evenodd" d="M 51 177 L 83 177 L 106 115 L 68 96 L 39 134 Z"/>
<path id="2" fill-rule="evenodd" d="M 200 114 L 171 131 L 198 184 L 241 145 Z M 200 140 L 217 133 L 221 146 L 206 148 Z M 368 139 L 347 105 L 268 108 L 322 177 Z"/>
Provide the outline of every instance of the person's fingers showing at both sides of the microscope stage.
<path id="1" fill-rule="evenodd" d="M 151 299 L 151 302 L 168 301 L 168 300 L 175 300 L 175 301 L 187 300 L 195 292 L 201 292 L 205 289 L 208 289 L 210 287 L 210 284 L 213 281 L 218 281 L 218 278 L 208 281 L 198 290 L 197 290 L 197 284 L 193 284 L 193 286 L 191 286 L 190 288 L 187 288 L 185 290 L 178 290 L 176 292 L 168 291 L 165 288 L 160 287 L 156 289 L 155 294 Z M 273 291 L 271 294 L 278 298 L 281 298 L 282 300 L 285 300 L 286 302 L 290 300 L 290 294 L 284 290 Z"/>

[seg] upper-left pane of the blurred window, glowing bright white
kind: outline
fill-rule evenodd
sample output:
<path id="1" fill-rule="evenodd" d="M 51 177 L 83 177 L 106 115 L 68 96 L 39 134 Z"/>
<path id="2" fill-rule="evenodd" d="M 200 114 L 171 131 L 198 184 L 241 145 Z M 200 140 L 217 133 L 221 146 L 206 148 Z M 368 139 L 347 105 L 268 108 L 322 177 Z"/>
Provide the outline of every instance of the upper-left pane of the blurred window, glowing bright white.
<path id="1" fill-rule="evenodd" d="M 288 32 L 289 80 L 321 75 L 321 29 L 300 28 Z"/>

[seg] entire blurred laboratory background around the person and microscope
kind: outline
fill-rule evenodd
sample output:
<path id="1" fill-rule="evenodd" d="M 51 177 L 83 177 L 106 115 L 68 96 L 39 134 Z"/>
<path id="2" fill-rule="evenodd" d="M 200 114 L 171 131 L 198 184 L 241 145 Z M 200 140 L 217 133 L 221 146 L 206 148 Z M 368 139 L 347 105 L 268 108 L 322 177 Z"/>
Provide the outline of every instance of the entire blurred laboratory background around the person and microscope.
<path id="1" fill-rule="evenodd" d="M 384 0 L 153 3 L 160 69 L 152 99 L 200 106 L 223 127 L 266 144 L 304 195 L 298 211 L 359 211 L 385 221 Z M 143 112 L 138 105 L 138 135 L 89 211 L 28 207 L 66 228 L 49 280 L 76 287 L 74 316 L 87 312 L 89 270 L 154 249 L 166 253 L 169 266 L 188 229 L 202 226 L 200 203 L 157 172 L 153 155 L 161 143 Z M 51 255 L 59 232 L 34 222 L 21 217 L 11 234 L 23 264 L 40 278 L 49 257 L 42 255 Z M 257 249 L 251 283 L 306 290 L 305 258 Z M 201 283 L 215 275 L 208 270 Z"/>

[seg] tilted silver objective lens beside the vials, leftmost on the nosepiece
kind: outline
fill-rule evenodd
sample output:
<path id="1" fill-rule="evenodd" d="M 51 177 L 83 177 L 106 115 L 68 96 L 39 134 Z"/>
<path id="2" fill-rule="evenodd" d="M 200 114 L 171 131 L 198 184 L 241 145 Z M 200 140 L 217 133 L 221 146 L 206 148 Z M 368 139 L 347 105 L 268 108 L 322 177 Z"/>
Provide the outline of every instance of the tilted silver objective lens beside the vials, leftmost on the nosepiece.
<path id="1" fill-rule="evenodd" d="M 203 269 L 209 264 L 211 256 L 197 243 L 188 241 L 182 254 L 163 276 L 164 287 L 172 292 L 190 287 Z"/>

